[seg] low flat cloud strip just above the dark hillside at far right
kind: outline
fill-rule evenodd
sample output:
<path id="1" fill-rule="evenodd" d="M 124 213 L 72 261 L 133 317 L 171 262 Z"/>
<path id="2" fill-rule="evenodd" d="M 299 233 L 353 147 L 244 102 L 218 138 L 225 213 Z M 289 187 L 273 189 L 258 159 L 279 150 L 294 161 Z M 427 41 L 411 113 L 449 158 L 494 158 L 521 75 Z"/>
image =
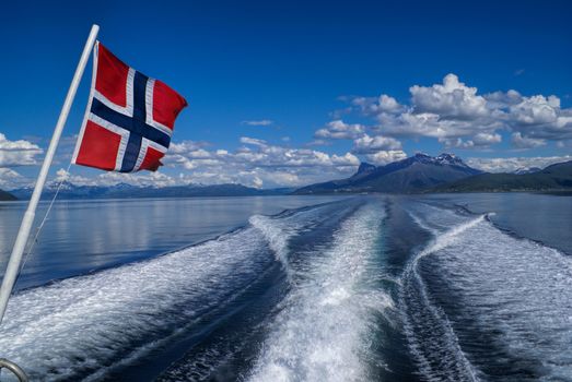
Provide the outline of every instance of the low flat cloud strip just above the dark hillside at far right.
<path id="1" fill-rule="evenodd" d="M 527 169 L 532 167 L 545 168 L 568 160 L 572 160 L 571 155 L 550 157 L 468 158 L 467 164 L 488 172 L 513 172 L 517 169 Z"/>

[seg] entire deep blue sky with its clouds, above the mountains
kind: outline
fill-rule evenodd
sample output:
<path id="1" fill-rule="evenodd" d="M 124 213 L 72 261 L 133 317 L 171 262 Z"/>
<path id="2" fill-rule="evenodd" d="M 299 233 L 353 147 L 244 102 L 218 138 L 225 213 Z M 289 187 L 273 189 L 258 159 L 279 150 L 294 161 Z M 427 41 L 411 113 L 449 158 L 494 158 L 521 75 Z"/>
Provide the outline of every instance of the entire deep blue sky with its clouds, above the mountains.
<path id="1" fill-rule="evenodd" d="M 0 188 L 33 181 L 92 23 L 189 100 L 159 174 L 67 168 L 85 184 L 299 186 L 416 152 L 487 170 L 572 154 L 569 1 L 26 1 L 0 14 Z M 90 63 L 91 65 L 91 63 Z M 504 159 L 500 159 L 504 158 Z M 59 170 L 59 175 L 56 172 Z"/>

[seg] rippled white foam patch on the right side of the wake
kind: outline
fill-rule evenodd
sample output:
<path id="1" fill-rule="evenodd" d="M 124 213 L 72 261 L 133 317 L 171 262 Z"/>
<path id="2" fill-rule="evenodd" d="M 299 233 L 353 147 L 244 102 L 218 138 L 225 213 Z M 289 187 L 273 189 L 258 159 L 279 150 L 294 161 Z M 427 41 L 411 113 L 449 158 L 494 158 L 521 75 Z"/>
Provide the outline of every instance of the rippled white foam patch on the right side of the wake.
<path id="1" fill-rule="evenodd" d="M 442 255 L 447 261 L 440 270 L 470 303 L 471 319 L 497 333 L 509 357 L 542 365 L 536 370 L 541 380 L 570 379 L 570 256 L 506 235 L 486 220 Z"/>

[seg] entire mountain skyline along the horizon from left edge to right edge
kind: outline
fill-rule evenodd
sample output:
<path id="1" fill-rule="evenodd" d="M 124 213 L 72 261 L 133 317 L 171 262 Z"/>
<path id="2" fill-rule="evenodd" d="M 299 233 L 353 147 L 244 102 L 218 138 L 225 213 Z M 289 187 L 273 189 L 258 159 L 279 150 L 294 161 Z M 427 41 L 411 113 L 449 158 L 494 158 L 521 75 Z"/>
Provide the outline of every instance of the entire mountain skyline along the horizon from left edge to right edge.
<path id="1" fill-rule="evenodd" d="M 43 192 L 43 199 L 54 198 L 57 182 Z M 471 168 L 454 154 L 432 157 L 418 153 L 411 157 L 375 166 L 361 163 L 350 177 L 308 184 L 302 188 L 255 189 L 238 183 L 187 184 L 172 187 L 139 187 L 117 183 L 109 187 L 60 184 L 58 199 L 137 199 L 137 198 L 200 198 L 257 196 L 346 193 L 445 193 L 445 192 L 512 192 L 572 190 L 572 160 L 539 168 L 521 168 L 513 172 L 491 174 Z M 27 200 L 32 188 L 0 190 L 0 200 Z"/>

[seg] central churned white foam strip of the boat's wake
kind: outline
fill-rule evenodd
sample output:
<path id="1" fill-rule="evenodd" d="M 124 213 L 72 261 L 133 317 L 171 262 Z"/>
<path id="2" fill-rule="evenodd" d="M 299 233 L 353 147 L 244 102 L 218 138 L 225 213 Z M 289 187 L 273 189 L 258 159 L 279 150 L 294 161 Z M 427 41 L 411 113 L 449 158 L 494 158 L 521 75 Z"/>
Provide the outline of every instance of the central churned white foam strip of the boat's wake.
<path id="1" fill-rule="evenodd" d="M 373 312 L 393 307 L 367 286 L 383 211 L 369 204 L 347 218 L 324 253 L 307 253 L 271 324 L 253 381 L 364 381 Z"/>

